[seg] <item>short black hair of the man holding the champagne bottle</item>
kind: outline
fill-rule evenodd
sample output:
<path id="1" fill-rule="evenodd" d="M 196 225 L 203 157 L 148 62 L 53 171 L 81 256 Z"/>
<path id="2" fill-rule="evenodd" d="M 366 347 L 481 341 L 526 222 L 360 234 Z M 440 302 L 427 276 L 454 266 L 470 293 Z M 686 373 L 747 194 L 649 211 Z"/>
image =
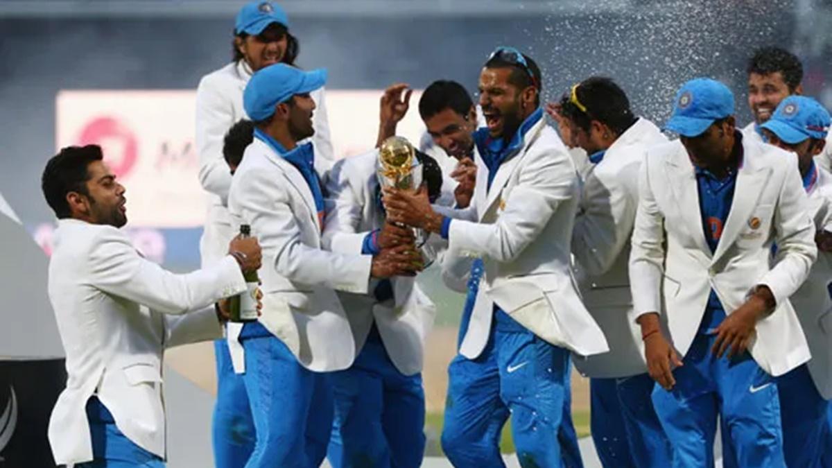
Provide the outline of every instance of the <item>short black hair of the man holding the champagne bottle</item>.
<path id="1" fill-rule="evenodd" d="M 89 197 L 87 181 L 90 180 L 90 163 L 102 161 L 102 147 L 65 147 L 53 156 L 41 176 L 43 197 L 58 219 L 72 216 L 67 193 L 78 192 Z"/>

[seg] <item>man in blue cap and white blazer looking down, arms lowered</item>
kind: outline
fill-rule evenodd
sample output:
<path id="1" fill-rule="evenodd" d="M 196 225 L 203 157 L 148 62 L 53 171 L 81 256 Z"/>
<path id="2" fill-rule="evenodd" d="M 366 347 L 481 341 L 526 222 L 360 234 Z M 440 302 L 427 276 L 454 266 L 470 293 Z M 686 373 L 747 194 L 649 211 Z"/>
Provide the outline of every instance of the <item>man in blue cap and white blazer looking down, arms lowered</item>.
<path id="1" fill-rule="evenodd" d="M 679 140 L 641 166 L 631 291 L 674 466 L 713 466 L 717 416 L 735 466 L 784 466 L 774 377 L 810 358 L 789 302 L 817 256 L 796 160 L 733 114 L 725 85 L 687 82 Z"/>

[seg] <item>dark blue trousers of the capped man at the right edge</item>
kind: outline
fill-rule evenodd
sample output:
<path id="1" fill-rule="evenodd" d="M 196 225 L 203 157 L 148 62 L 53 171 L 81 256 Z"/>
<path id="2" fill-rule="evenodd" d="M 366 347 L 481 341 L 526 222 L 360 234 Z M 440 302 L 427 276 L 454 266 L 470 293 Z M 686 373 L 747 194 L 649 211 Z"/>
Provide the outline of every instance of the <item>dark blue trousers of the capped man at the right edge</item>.
<path id="1" fill-rule="evenodd" d="M 824 466 L 822 459 L 830 437 L 829 401 L 823 399 L 804 364 L 777 377 L 783 451 L 786 466 Z"/>

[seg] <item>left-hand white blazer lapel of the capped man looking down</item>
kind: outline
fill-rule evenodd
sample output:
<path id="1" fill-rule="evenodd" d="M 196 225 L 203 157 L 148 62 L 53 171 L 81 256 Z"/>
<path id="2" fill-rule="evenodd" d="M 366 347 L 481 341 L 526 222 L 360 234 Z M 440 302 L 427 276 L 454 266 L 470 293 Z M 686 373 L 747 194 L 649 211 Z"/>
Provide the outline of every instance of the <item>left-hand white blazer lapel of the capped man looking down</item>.
<path id="1" fill-rule="evenodd" d="M 670 184 L 676 208 L 684 219 L 681 224 L 688 230 L 688 234 L 696 242 L 696 246 L 705 254 L 707 259 L 711 258 L 711 247 L 705 240 L 705 231 L 702 227 L 701 210 L 699 207 L 699 190 L 696 187 L 696 172 L 693 164 L 687 157 L 685 147 L 679 145 L 673 157 L 666 160 L 667 183 Z"/>

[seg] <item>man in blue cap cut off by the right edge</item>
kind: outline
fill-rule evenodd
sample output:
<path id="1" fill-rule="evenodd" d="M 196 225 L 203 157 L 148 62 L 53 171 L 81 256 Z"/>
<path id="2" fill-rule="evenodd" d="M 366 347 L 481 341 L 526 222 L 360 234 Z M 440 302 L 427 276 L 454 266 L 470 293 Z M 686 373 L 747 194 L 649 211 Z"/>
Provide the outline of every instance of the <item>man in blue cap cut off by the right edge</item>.
<path id="1" fill-rule="evenodd" d="M 814 158 L 824 150 L 830 113 L 810 97 L 786 97 L 761 127 L 768 142 L 797 155 L 820 250 L 809 278 L 791 299 L 812 359 L 777 379 L 785 461 L 787 466 L 828 466 L 822 457 L 830 437 L 826 415 L 832 398 L 832 253 L 823 251 L 823 243 L 832 231 L 832 177 Z"/>

